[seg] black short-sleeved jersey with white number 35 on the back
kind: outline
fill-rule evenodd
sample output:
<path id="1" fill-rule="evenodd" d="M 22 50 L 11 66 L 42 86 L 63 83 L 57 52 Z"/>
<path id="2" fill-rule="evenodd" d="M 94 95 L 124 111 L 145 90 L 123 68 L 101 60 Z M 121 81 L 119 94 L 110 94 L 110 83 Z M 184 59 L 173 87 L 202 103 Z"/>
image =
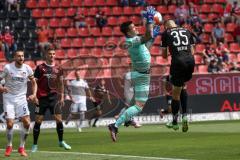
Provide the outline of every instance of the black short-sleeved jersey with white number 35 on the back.
<path id="1" fill-rule="evenodd" d="M 162 34 L 162 47 L 168 47 L 172 59 L 191 53 L 191 45 L 194 44 L 190 31 L 182 27 L 167 29 Z"/>

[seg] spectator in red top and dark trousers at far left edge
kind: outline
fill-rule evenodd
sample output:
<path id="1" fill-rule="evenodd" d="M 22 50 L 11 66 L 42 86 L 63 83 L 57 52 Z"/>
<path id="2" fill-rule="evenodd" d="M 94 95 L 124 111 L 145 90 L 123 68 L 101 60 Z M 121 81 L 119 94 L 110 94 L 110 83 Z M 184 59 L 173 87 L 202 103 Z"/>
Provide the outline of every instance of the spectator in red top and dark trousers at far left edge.
<path id="1" fill-rule="evenodd" d="M 9 26 L 5 26 L 4 33 L 2 35 L 2 41 L 4 45 L 5 57 L 8 61 L 13 58 L 13 53 L 17 50 L 17 45 L 14 42 L 14 36 L 10 31 Z"/>

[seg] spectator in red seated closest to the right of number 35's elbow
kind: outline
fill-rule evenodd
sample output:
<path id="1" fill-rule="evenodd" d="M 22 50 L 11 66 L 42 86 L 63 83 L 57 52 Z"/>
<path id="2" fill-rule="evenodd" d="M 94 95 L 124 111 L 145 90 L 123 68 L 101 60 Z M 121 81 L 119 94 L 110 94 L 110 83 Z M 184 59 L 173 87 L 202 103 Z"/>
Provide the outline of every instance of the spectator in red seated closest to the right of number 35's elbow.
<path id="1" fill-rule="evenodd" d="M 209 44 L 206 45 L 206 48 L 202 53 L 204 64 L 209 65 L 212 60 L 217 61 L 217 56 L 215 55 L 215 49 L 212 48 Z"/>

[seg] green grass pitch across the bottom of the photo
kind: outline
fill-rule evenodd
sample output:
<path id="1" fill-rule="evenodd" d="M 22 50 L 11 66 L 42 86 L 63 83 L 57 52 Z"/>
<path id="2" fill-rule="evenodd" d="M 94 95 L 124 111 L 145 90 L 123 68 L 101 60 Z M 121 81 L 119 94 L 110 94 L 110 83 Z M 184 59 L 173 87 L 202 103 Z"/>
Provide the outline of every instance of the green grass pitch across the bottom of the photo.
<path id="1" fill-rule="evenodd" d="M 32 131 L 31 131 L 32 132 Z M 64 139 L 72 146 L 65 151 L 58 147 L 54 129 L 41 130 L 39 152 L 31 153 L 30 134 L 26 149 L 29 157 L 23 158 L 14 151 L 4 157 L 5 132 L 0 133 L 0 159 L 31 160 L 141 160 L 141 159 L 192 159 L 239 160 L 240 121 L 214 121 L 191 123 L 189 132 L 173 131 L 164 125 L 144 125 L 141 128 L 119 130 L 118 142 L 113 143 L 106 127 L 65 129 Z M 14 132 L 14 149 L 19 144 L 19 133 Z M 131 156 L 130 156 L 131 155 Z"/>

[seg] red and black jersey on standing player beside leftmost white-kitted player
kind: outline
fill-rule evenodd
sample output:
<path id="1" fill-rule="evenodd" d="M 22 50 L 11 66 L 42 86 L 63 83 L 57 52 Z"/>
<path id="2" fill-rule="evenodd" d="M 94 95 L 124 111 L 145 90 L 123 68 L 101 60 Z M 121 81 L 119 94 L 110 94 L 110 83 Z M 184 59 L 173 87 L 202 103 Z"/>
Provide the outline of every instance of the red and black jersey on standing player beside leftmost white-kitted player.
<path id="1" fill-rule="evenodd" d="M 58 93 L 62 76 L 63 70 L 59 66 L 51 66 L 45 63 L 38 65 L 34 72 L 38 85 L 37 97 L 45 97 L 49 93 Z"/>

